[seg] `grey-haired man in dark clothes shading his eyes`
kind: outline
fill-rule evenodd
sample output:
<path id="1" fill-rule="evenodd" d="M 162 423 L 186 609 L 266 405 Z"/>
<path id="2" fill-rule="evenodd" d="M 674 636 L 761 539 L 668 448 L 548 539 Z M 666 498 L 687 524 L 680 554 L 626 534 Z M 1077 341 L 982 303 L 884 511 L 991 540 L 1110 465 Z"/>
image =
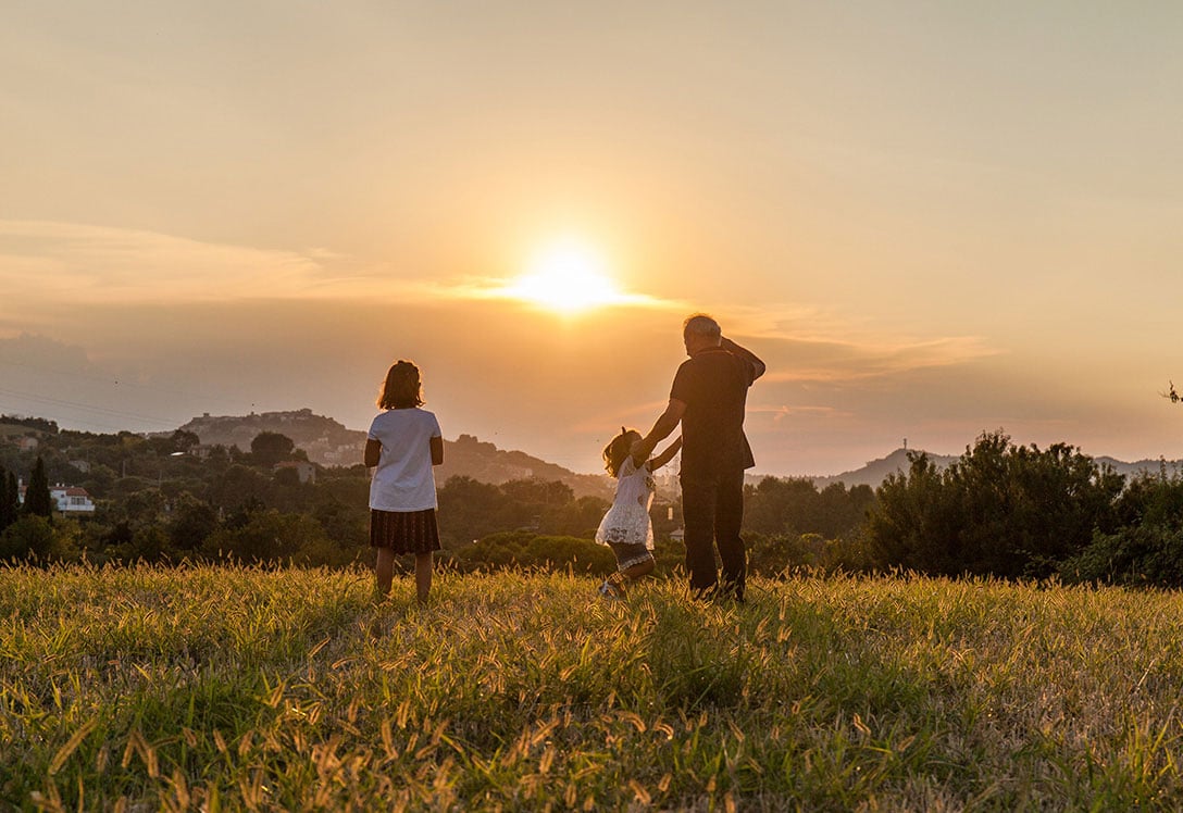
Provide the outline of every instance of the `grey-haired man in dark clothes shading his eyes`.
<path id="1" fill-rule="evenodd" d="M 756 464 L 743 432 L 748 388 L 764 375 L 764 363 L 731 339 L 719 324 L 696 313 L 683 325 L 690 358 L 681 363 L 670 404 L 653 429 L 636 442 L 634 457 L 653 448 L 681 423 L 681 509 L 686 521 L 686 570 L 696 597 L 744 597 L 748 557 L 743 522 L 743 473 Z M 723 584 L 715 547 L 723 562 Z"/>

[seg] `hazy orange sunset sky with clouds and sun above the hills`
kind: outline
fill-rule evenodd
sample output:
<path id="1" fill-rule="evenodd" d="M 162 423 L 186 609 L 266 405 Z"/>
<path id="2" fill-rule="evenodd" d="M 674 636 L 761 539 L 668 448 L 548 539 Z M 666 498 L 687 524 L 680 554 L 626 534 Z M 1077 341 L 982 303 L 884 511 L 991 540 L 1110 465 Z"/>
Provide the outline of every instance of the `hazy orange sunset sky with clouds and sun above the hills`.
<path id="1" fill-rule="evenodd" d="M 446 438 L 596 471 L 706 311 L 768 364 L 757 473 L 1183 457 L 1181 43 L 1169 0 L 17 0 L 0 412 L 364 429 L 411 358 Z"/>

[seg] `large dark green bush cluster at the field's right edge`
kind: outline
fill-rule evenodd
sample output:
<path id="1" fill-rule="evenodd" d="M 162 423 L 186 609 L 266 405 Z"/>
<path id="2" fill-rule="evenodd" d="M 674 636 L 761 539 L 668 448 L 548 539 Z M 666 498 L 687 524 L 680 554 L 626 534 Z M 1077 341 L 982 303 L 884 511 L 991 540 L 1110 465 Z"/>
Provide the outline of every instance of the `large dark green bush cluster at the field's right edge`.
<path id="1" fill-rule="evenodd" d="M 1183 482 L 1125 477 L 1078 449 L 982 435 L 944 471 L 923 454 L 878 490 L 859 540 L 875 570 L 1183 585 Z"/>

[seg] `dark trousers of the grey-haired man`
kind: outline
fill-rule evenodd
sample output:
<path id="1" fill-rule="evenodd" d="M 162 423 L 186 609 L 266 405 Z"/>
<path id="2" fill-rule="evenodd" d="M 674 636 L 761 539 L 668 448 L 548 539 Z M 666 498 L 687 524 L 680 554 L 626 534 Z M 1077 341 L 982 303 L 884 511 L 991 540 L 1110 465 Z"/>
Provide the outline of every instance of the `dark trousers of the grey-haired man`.
<path id="1" fill-rule="evenodd" d="M 743 469 L 722 475 L 681 476 L 681 515 L 686 523 L 690 590 L 705 596 L 716 587 L 715 546 L 723 562 L 722 592 L 743 599 L 748 573 L 739 527 L 743 525 Z"/>

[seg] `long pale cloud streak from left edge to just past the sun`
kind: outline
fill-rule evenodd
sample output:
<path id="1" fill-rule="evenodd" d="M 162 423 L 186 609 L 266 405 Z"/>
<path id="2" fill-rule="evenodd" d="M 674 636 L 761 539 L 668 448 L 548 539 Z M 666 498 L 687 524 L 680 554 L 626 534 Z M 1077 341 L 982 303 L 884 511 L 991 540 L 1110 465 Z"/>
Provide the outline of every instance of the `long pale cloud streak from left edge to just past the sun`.
<path id="1" fill-rule="evenodd" d="M 263 249 L 143 229 L 35 220 L 0 220 L 0 286 L 20 294 L 8 301 L 11 312 L 0 307 L 0 326 L 17 327 L 30 325 L 32 314 L 50 304 L 384 297 L 403 303 L 529 305 L 529 298 L 505 279 L 409 279 L 384 265 L 366 265 L 323 247 Z M 681 307 L 677 301 L 619 290 L 597 305 Z"/>

